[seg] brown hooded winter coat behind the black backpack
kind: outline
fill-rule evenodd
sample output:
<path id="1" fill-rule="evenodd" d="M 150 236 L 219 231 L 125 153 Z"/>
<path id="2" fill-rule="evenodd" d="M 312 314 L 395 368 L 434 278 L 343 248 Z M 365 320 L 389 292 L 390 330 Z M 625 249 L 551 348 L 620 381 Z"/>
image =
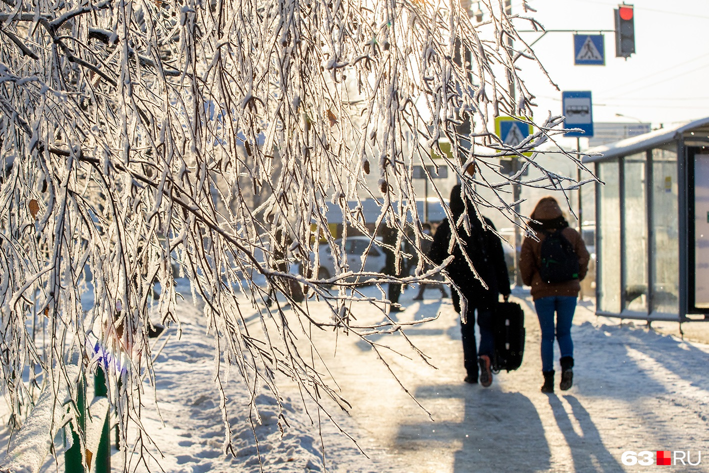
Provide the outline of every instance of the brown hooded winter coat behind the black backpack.
<path id="1" fill-rule="evenodd" d="M 559 208 L 557 201 L 553 197 L 543 197 L 535 207 L 531 215 L 532 219 L 538 220 L 545 224 L 546 222 L 557 222 L 562 218 L 562 210 Z M 547 225 L 544 225 L 547 227 Z M 536 241 L 532 237 L 526 237 L 522 242 L 522 250 L 520 254 L 520 273 L 522 281 L 527 286 L 531 286 L 531 295 L 533 300 L 545 298 L 552 295 L 571 295 L 578 296 L 581 285 L 579 281 L 586 277 L 588 271 L 588 250 L 584 244 L 584 239 L 581 238 L 579 232 L 570 228 L 564 227 L 559 229 L 547 228 L 547 232 L 562 232 L 564 237 L 569 240 L 571 246 L 574 246 L 576 256 L 579 257 L 579 279 L 564 281 L 563 283 L 545 283 L 539 275 L 539 268 L 542 266 L 542 241 L 545 239 L 545 233 L 542 231 L 542 226 L 537 226 L 536 234 L 540 241 Z M 532 226 L 534 228 L 534 226 Z"/>

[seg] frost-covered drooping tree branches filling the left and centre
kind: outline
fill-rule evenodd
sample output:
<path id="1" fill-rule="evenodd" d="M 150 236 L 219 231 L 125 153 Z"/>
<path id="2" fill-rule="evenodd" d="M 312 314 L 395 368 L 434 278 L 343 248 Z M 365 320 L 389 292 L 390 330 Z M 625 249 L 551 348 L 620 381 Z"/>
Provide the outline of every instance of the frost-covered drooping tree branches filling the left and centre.
<path id="1" fill-rule="evenodd" d="M 498 114 L 534 120 L 518 72 L 538 65 L 515 25 L 538 25 L 513 25 L 496 0 L 481 6 L 487 19 L 474 24 L 457 0 L 2 0 L 0 358 L 17 421 L 48 370 L 79 352 L 90 374 L 109 368 L 110 353 L 125 444 L 143 376 L 156 369 L 151 321 L 179 322 L 176 277 L 204 300 L 218 384 L 221 364 L 274 390 L 281 371 L 346 407 L 298 334 L 400 332 L 391 320 L 357 325 L 355 301 L 381 310 L 359 287 L 432 275 L 421 264 L 405 278 L 350 272 L 328 205 L 340 208 L 345 236 L 357 229 L 381 245 L 381 229 L 396 229 L 401 261 L 401 242 L 416 251 L 422 238 L 413 165 L 432 164 L 431 150 L 445 157 L 444 138 L 445 161 L 476 204 L 512 219 L 510 186 L 577 185 L 550 170 L 528 183 L 500 173 L 501 156 L 539 167 L 523 153 L 553 140 L 561 119 L 535 122 L 519 145 L 495 136 Z M 474 195 L 474 182 L 498 200 Z M 381 208 L 373 222 L 347 204 L 365 197 Z M 323 244 L 340 261 L 327 280 Z M 296 304 L 294 284 L 332 317 Z M 281 302 L 264 308 L 276 293 Z M 257 308 L 262 332 L 247 327 L 246 308 Z"/>

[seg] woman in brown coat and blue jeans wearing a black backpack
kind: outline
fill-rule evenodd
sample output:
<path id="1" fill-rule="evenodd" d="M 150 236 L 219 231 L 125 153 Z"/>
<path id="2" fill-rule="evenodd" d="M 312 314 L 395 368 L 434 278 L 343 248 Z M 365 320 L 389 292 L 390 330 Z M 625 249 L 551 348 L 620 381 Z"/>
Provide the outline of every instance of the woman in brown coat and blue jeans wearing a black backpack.
<path id="1" fill-rule="evenodd" d="M 571 322 L 581 290 L 579 281 L 588 271 L 588 250 L 579 232 L 569 227 L 554 197 L 542 197 L 530 217 L 539 222 L 530 223 L 538 241 L 526 237 L 522 242 L 520 273 L 523 283 L 532 288 L 530 292 L 542 329 L 542 392 L 554 392 L 554 336 L 561 352 L 562 381 L 559 388 L 566 391 L 571 388 L 574 377 Z M 562 238 L 557 238 L 559 234 Z M 547 244 L 546 239 L 549 239 Z M 554 258 L 549 256 L 549 252 L 554 252 L 552 246 L 557 247 Z M 559 256 L 559 252 L 564 251 L 566 256 Z M 557 262 L 559 266 L 554 266 Z"/>

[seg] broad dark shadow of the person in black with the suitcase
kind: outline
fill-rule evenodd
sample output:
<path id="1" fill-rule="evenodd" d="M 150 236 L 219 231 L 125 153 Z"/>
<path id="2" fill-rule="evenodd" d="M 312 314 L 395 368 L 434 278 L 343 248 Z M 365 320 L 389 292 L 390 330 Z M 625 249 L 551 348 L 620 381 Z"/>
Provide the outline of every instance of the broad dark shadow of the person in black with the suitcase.
<path id="1" fill-rule="evenodd" d="M 521 393 L 471 385 L 420 386 L 416 398 L 458 399 L 464 404 L 461 423 L 403 423 L 396 449 L 435 449 L 459 445 L 454 473 L 518 473 L 549 469 L 549 445 L 537 409 Z M 529 467 L 533 469 L 529 469 Z"/>

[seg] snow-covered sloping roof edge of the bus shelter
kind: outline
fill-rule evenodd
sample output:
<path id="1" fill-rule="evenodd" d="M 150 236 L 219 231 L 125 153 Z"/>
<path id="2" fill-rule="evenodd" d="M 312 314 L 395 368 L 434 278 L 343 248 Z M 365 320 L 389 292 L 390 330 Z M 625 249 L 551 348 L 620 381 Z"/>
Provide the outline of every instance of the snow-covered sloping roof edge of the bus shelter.
<path id="1" fill-rule="evenodd" d="M 671 141 L 679 141 L 684 134 L 696 129 L 709 131 L 709 117 L 590 148 L 585 153 L 588 153 L 588 155 L 598 154 L 600 156 L 584 156 L 582 161 L 584 163 L 596 163 L 618 158 L 619 156 L 630 156 L 640 151 L 657 148 Z"/>

